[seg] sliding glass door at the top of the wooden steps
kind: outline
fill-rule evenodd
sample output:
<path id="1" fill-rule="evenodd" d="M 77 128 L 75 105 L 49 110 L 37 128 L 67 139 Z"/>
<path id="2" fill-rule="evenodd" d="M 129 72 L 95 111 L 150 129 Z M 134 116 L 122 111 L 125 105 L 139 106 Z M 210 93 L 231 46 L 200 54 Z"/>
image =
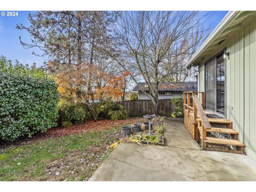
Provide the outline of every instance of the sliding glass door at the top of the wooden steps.
<path id="1" fill-rule="evenodd" d="M 205 63 L 205 108 L 225 114 L 225 60 L 223 52 Z"/>

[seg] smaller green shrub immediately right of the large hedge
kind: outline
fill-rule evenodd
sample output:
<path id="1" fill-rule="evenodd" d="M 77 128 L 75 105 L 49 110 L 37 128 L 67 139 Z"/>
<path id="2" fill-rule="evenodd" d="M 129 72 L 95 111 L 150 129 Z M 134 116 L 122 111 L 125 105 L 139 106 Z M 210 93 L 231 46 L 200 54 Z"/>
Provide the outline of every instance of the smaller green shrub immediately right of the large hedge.
<path id="1" fill-rule="evenodd" d="M 64 127 L 82 123 L 86 117 L 85 107 L 78 103 L 61 99 L 58 103 L 59 121 L 58 124 Z"/>

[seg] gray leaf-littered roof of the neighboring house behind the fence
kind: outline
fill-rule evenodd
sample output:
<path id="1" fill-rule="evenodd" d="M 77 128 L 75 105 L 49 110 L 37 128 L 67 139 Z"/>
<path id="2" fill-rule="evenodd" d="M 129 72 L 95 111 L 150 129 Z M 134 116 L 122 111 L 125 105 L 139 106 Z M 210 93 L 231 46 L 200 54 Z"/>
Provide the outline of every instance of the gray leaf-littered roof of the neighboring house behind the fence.
<path id="1" fill-rule="evenodd" d="M 133 91 L 147 91 L 145 82 L 138 83 Z M 159 86 L 158 91 L 197 91 L 197 82 L 164 82 Z"/>

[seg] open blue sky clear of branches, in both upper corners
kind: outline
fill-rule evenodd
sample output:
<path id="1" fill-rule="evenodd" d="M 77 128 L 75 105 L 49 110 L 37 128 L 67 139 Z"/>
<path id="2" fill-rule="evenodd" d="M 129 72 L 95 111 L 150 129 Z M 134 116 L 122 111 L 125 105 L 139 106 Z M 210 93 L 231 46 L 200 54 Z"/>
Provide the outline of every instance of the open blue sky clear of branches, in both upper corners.
<path id="1" fill-rule="evenodd" d="M 0 11 L 2 12 L 2 11 Z M 36 62 L 37 66 L 43 65 L 44 59 L 33 55 L 38 53 L 38 49 L 24 49 L 19 42 L 19 36 L 23 42 L 30 42 L 30 35 L 25 30 L 15 29 L 17 24 L 22 23 L 24 26 L 29 26 L 28 13 L 34 11 L 18 11 L 18 16 L 7 17 L 0 15 L 0 55 L 4 55 L 7 59 L 21 61 L 23 64 L 31 65 Z M 227 11 L 213 11 L 212 17 L 205 25 L 211 26 L 212 29 L 218 25 L 221 19 L 227 14 Z"/>

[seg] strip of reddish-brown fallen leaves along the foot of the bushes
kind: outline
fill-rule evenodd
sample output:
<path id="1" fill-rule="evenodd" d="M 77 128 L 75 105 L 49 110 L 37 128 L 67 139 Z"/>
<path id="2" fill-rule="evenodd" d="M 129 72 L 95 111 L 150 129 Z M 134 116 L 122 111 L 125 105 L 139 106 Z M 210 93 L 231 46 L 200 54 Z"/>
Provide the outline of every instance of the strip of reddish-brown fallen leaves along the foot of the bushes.
<path id="1" fill-rule="evenodd" d="M 54 137 L 62 137 L 65 135 L 71 134 L 81 134 L 87 133 L 91 131 L 100 131 L 100 130 L 109 130 L 113 127 L 121 127 L 123 125 L 130 125 L 137 122 L 145 121 L 142 117 L 129 117 L 128 119 L 122 119 L 118 121 L 113 121 L 110 119 L 100 119 L 97 122 L 94 121 L 86 121 L 82 124 L 72 125 L 68 128 L 65 127 L 53 127 L 46 132 L 36 133 L 32 138 L 21 137 L 15 141 L 2 141 L 0 140 L 0 149 L 8 148 L 8 147 L 17 147 L 26 145 L 31 142 L 35 142 L 38 140 L 44 140 L 47 138 Z"/>

